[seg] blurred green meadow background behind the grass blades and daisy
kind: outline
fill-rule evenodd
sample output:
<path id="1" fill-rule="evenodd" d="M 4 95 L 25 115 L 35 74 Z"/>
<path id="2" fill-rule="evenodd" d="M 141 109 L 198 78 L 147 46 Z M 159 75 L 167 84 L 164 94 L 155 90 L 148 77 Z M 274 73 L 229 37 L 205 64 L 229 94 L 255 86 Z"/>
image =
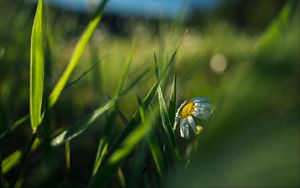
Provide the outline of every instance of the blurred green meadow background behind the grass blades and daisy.
<path id="1" fill-rule="evenodd" d="M 35 8 L 32 1 L 0 1 L 2 161 L 24 149 L 30 139 L 29 120 L 16 122 L 29 113 Z M 45 97 L 67 66 L 90 16 L 46 5 Z M 189 98 L 209 96 L 215 112 L 209 128 L 197 137 L 183 140 L 176 130 L 184 159 L 168 167 L 164 181 L 151 183 L 141 177 L 138 185 L 299 187 L 299 18 L 298 1 L 279 0 L 228 0 L 214 9 L 194 12 L 184 21 L 105 14 L 70 82 L 94 68 L 64 90 L 40 136 L 56 135 L 113 96 L 132 43 L 136 50 L 128 83 L 153 67 L 154 52 L 158 59 L 167 59 L 182 41 L 171 70 L 177 74 L 177 106 Z M 144 97 L 154 81 L 150 71 L 121 100 L 124 116 L 132 115 L 138 106 L 136 96 Z M 171 86 L 165 85 L 168 96 Z M 45 146 L 30 154 L 18 186 L 86 185 L 105 120 L 106 116 L 101 117 L 96 126 L 72 141 L 70 171 L 65 168 L 64 148 Z M 111 126 L 114 137 L 125 125 L 118 117 Z M 130 179 L 133 160 L 130 156 L 124 165 L 125 180 Z M 7 185 L 15 170 L 2 166 L 1 184 Z M 152 178 L 157 179 L 157 174 Z M 123 184 L 115 181 L 108 186 Z"/>

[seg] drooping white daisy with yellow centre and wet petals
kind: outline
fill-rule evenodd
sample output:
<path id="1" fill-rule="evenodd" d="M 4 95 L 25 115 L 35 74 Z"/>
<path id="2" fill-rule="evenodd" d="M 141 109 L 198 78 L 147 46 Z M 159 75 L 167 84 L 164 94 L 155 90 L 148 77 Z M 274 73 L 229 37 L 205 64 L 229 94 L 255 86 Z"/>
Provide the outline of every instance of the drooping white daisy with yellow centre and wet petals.
<path id="1" fill-rule="evenodd" d="M 190 130 L 192 128 L 197 135 L 202 132 L 203 127 L 196 124 L 207 121 L 212 114 L 213 106 L 207 102 L 208 97 L 197 97 L 184 101 L 176 112 L 175 128 L 180 125 L 180 136 L 182 138 L 189 138 Z"/>

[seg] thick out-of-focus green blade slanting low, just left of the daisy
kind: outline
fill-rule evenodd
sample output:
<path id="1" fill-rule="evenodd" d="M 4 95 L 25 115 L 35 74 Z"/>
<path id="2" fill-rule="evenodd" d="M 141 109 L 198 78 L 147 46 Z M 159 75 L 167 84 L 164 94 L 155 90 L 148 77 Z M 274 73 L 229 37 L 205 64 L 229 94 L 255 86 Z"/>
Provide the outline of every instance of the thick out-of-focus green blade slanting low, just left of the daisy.
<path id="1" fill-rule="evenodd" d="M 103 187 L 115 174 L 119 166 L 121 166 L 124 159 L 132 152 L 137 144 L 139 144 L 150 133 L 151 119 L 146 116 L 144 107 L 139 108 L 141 116 L 141 126 L 127 135 L 123 143 L 118 147 L 107 160 L 107 164 L 99 169 L 99 172 L 92 178 L 90 187 Z"/>

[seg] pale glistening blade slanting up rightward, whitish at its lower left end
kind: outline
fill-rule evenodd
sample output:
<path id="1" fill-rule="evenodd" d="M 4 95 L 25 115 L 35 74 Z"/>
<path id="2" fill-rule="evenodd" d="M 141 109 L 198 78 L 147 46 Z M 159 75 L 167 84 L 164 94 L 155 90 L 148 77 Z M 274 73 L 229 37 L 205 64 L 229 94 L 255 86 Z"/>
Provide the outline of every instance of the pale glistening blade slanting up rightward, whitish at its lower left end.
<path id="1" fill-rule="evenodd" d="M 75 137 L 83 133 L 97 118 L 99 118 L 106 111 L 110 110 L 127 92 L 129 92 L 146 75 L 147 71 L 148 70 L 139 75 L 126 89 L 124 89 L 120 96 L 108 100 L 94 112 L 77 121 L 74 125 L 71 126 L 71 128 L 63 131 L 61 134 L 55 137 L 51 141 L 51 145 L 58 146 L 62 143 L 65 143 L 66 141 L 74 139 Z"/>

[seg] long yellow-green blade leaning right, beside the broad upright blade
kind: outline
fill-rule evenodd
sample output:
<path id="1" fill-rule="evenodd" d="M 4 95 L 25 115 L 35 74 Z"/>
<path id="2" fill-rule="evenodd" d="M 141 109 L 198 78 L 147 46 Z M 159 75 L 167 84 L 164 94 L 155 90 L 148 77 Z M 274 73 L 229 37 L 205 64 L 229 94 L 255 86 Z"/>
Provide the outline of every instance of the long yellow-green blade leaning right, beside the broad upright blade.
<path id="1" fill-rule="evenodd" d="M 58 83 L 54 87 L 53 91 L 51 92 L 49 96 L 49 107 L 52 107 L 56 101 L 58 100 L 62 90 L 64 89 L 65 85 L 67 84 L 67 81 L 69 80 L 73 70 L 75 69 L 76 65 L 79 62 L 79 59 L 81 58 L 81 55 L 83 54 L 88 42 L 90 41 L 93 33 L 95 32 L 98 24 L 100 23 L 102 19 L 102 14 L 104 7 L 107 3 L 107 0 L 103 0 L 96 16 L 89 22 L 87 28 L 81 35 L 79 41 L 76 44 L 75 50 L 73 52 L 73 55 L 71 57 L 71 60 L 64 71 L 63 75 L 59 79 Z"/>

